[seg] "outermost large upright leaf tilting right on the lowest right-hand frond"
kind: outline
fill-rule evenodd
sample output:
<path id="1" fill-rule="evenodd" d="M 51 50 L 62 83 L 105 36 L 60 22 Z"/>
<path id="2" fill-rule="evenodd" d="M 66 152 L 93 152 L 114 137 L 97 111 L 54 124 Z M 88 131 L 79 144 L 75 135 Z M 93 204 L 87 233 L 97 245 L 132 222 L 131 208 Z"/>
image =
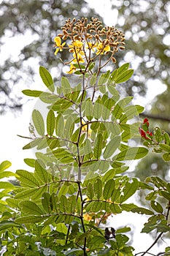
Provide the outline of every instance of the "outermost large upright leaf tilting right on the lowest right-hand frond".
<path id="1" fill-rule="evenodd" d="M 131 183 L 126 182 L 125 187 L 123 188 L 123 195 L 120 196 L 120 203 L 125 202 L 128 200 L 129 197 L 134 195 L 136 190 L 138 189 L 138 180 L 133 178 Z"/>

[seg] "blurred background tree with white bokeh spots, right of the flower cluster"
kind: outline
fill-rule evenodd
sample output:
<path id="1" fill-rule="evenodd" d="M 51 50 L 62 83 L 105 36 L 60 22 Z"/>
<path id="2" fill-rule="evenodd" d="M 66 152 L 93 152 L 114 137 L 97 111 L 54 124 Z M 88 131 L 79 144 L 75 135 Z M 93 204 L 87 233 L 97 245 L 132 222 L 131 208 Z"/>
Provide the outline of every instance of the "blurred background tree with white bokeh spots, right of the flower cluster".
<path id="1" fill-rule="evenodd" d="M 149 106 L 150 118 L 169 132 L 170 121 L 170 1 L 113 1 L 117 25 L 126 36 L 125 61 L 135 61 L 134 78 L 127 85 L 129 95 L 146 94 L 147 82 L 166 85 L 166 91 Z"/>

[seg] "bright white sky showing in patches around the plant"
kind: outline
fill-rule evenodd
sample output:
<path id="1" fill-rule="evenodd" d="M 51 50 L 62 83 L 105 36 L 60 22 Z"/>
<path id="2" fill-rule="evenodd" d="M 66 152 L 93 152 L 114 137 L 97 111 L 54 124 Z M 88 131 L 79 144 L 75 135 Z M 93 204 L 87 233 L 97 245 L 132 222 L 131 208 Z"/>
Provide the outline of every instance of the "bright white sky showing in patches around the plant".
<path id="1" fill-rule="evenodd" d="M 98 12 L 101 16 L 104 17 L 104 22 L 107 24 L 107 26 L 115 25 L 117 20 L 117 10 L 111 10 L 111 6 L 108 4 L 109 1 L 106 0 L 86 0 L 90 4 L 91 7 L 95 7 L 96 12 Z M 120 22 L 123 22 L 120 20 Z M 20 49 L 22 48 L 23 44 L 27 44 L 28 37 L 23 36 L 20 37 L 20 39 L 7 39 L 6 44 L 4 45 L 4 49 L 2 53 L 4 52 L 5 55 L 1 55 L 1 61 L 2 59 L 7 58 L 8 54 L 14 54 L 13 58 L 18 57 L 18 53 L 20 52 Z M 15 41 L 16 40 L 16 41 Z M 12 53 L 10 53 L 9 47 L 12 45 Z M 136 60 L 131 59 L 131 56 L 128 56 L 127 61 L 131 62 L 131 66 L 136 67 Z M 34 63 L 33 63 L 34 64 Z M 37 70 L 37 77 L 34 80 L 33 86 L 31 88 L 33 89 L 42 89 L 45 88 L 43 86 L 42 80 L 39 78 L 39 67 L 34 64 L 35 70 Z M 23 86 L 23 87 L 22 87 Z M 23 89 L 26 89 L 25 85 L 20 86 L 20 91 Z M 155 95 L 162 93 L 166 87 L 163 85 L 160 85 L 159 83 L 154 84 L 154 90 L 152 89 L 153 83 L 148 84 L 148 91 L 147 91 L 147 100 L 141 98 L 138 98 L 138 104 L 147 105 L 147 102 L 152 101 L 152 99 L 155 98 Z M 152 93 L 150 93 L 152 92 Z M 155 92 L 155 94 L 153 94 Z M 34 110 L 34 106 L 36 105 L 36 99 L 29 100 L 26 102 L 25 105 L 23 105 L 23 112 L 22 113 L 7 113 L 4 116 L 0 116 L 0 132 L 1 132 L 1 154 L 0 154 L 0 162 L 4 160 L 9 160 L 12 162 L 12 167 L 10 170 L 17 169 L 26 169 L 29 170 L 28 166 L 23 162 L 24 158 L 34 158 L 34 151 L 31 150 L 25 150 L 23 151 L 22 148 L 24 145 L 28 143 L 27 139 L 23 139 L 18 137 L 17 135 L 23 135 L 23 136 L 29 136 L 28 132 L 28 126 L 31 121 L 31 112 Z M 3 150 L 2 150 L 3 148 Z M 140 233 L 141 227 L 139 227 L 139 223 L 144 224 L 146 221 L 146 218 L 139 214 L 127 214 L 125 213 L 124 216 L 121 214 L 114 215 L 110 218 L 111 225 L 114 225 L 114 227 L 120 227 L 122 225 L 130 225 L 134 226 L 133 228 L 136 230 L 136 236 L 134 236 L 134 247 L 138 248 L 138 252 L 142 252 L 145 249 L 147 249 L 150 244 L 152 244 L 152 238 L 150 238 L 149 235 L 145 233 Z M 144 241 L 144 242 L 142 242 Z M 163 247 L 166 246 L 163 244 Z M 167 245 L 168 246 L 168 245 Z M 139 248 L 140 247 L 140 248 Z M 157 246 L 154 246 L 153 249 L 150 251 L 152 253 L 160 252 L 161 247 L 158 248 Z"/>

